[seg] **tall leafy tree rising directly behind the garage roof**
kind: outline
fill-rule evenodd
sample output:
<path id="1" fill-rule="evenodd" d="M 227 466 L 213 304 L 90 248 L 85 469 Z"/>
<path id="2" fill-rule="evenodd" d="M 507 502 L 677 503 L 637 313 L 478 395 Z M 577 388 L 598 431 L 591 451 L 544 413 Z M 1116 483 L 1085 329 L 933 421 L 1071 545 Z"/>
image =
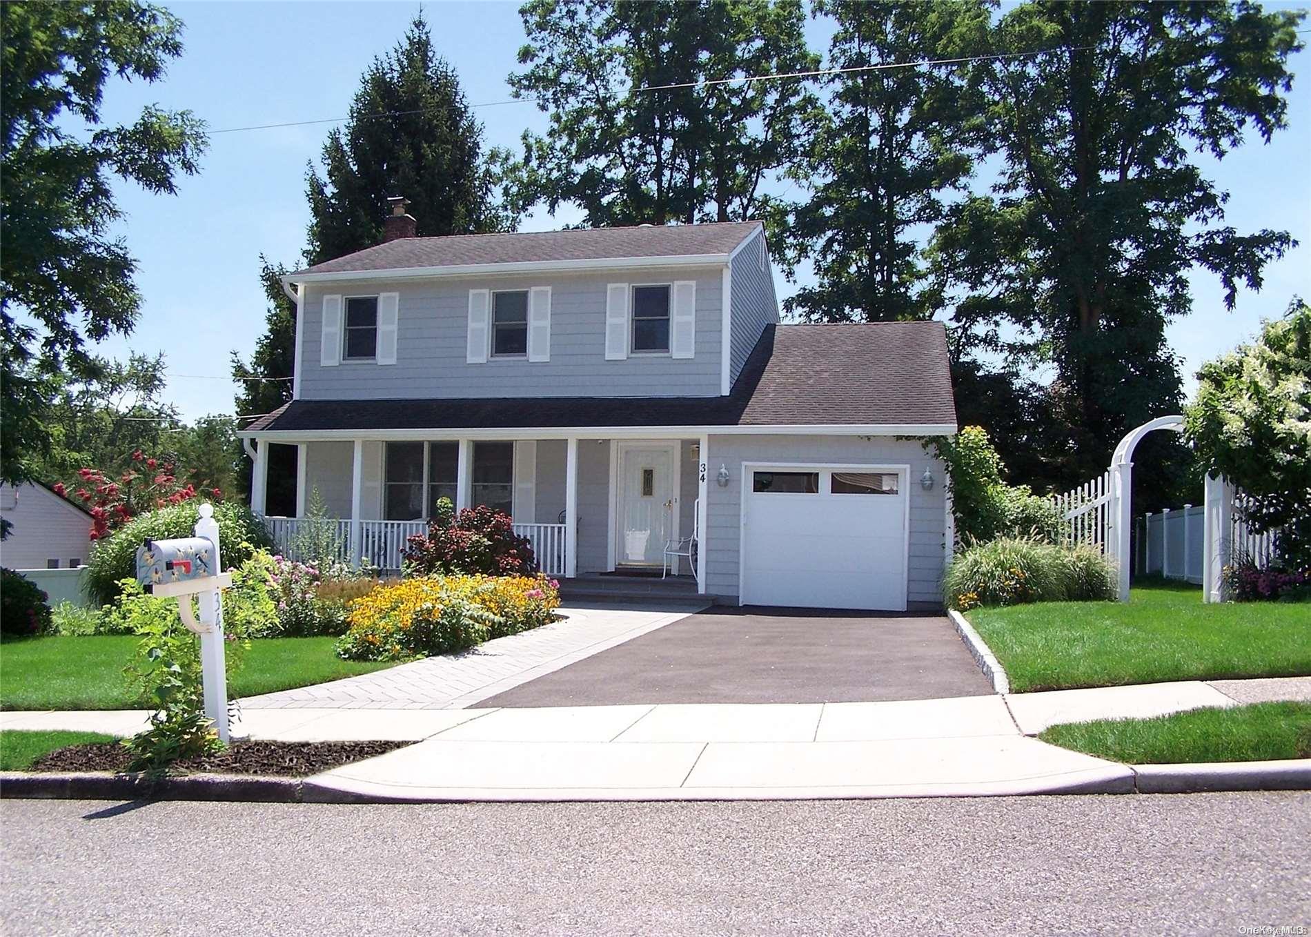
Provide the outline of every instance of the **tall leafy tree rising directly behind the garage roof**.
<path id="1" fill-rule="evenodd" d="M 982 101 L 962 66 L 905 66 L 981 48 L 985 0 L 937 4 L 818 0 L 836 22 L 829 106 L 805 119 L 805 152 L 789 176 L 809 198 L 775 239 L 787 269 L 809 259 L 814 286 L 788 309 L 810 321 L 931 318 L 943 294 L 922 262 L 924 225 L 965 187 L 982 138 Z"/>

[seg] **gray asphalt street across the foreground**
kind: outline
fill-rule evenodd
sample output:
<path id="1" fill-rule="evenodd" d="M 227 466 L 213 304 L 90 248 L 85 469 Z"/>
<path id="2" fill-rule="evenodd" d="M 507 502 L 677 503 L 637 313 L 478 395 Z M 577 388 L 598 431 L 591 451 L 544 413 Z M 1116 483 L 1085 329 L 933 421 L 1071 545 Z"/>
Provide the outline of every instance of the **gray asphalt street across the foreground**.
<path id="1" fill-rule="evenodd" d="M 3 801 L 0 824 L 5 934 L 1236 934 L 1311 924 L 1311 793 Z"/>

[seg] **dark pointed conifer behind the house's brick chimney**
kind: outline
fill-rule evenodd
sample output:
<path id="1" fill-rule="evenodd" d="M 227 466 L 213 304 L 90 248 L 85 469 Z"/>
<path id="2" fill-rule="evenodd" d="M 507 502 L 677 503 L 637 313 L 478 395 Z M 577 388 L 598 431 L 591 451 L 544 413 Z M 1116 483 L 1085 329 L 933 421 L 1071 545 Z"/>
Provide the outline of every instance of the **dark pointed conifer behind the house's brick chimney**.
<path id="1" fill-rule="evenodd" d="M 378 244 L 391 195 L 410 201 L 421 237 L 514 228 L 518 218 L 497 201 L 501 159 L 484 152 L 459 77 L 417 17 L 361 79 L 350 119 L 324 144 L 324 177 L 308 170 L 307 259 Z"/>

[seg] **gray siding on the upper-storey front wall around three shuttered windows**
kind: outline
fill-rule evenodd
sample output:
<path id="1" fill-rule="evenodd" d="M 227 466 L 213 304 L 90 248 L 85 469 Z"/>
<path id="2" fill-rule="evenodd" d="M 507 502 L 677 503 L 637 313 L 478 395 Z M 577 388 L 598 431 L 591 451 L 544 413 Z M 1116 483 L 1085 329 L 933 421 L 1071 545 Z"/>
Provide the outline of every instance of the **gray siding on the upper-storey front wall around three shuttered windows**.
<path id="1" fill-rule="evenodd" d="M 631 355 L 606 360 L 606 286 L 696 280 L 694 358 Z M 469 290 L 549 286 L 551 360 L 489 358 L 468 364 Z M 305 288 L 300 396 L 305 400 L 406 397 L 674 397 L 720 393 L 722 267 L 610 274 L 535 274 L 458 279 L 316 283 Z M 395 364 L 321 366 L 323 297 L 399 294 Z"/>

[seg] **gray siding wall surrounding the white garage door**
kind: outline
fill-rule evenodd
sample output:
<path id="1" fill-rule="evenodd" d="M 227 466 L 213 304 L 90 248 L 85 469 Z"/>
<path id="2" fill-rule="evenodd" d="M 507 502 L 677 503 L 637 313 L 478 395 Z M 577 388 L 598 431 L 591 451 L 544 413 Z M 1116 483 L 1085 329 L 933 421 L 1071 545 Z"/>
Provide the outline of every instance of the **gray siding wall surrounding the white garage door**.
<path id="1" fill-rule="evenodd" d="M 941 604 L 945 561 L 947 502 L 943 463 L 924 452 L 914 439 L 856 436 L 711 436 L 707 486 L 707 591 L 737 600 L 742 533 L 742 463 L 847 463 L 910 465 L 910 556 L 907 557 L 909 603 Z M 720 465 L 729 470 L 728 488 L 714 484 Z M 919 478 L 932 469 L 937 480 L 926 491 Z"/>

